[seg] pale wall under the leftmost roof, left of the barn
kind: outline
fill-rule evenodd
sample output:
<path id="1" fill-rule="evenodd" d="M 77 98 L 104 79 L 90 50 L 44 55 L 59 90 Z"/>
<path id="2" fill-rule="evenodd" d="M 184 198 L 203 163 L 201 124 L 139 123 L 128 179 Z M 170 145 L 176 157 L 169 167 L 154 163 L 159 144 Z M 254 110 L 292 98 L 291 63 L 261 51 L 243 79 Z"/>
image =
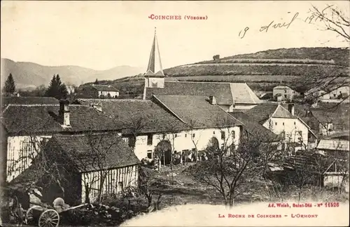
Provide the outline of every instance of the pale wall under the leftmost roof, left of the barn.
<path id="1" fill-rule="evenodd" d="M 40 151 L 41 147 L 39 144 L 43 138 L 49 139 L 50 136 L 8 137 L 6 163 L 6 180 L 8 182 L 18 177 L 19 174 L 31 165 L 31 160 L 33 160 L 38 151 Z"/>

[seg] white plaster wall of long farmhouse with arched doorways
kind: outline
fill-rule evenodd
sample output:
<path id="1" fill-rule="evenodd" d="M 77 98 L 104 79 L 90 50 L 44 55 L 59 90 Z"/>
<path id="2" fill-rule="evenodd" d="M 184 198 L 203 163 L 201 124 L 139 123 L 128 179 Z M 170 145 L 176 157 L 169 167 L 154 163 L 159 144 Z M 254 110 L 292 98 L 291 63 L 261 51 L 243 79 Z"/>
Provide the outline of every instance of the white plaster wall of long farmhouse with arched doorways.
<path id="1" fill-rule="evenodd" d="M 223 129 L 225 131 L 225 137 L 229 138 L 227 145 L 239 144 L 239 127 L 232 127 L 232 128 L 225 128 Z M 232 139 L 232 131 L 235 131 L 235 139 Z M 192 135 L 195 134 L 195 137 L 192 137 Z M 198 130 L 192 130 L 192 131 L 183 131 L 183 132 L 177 132 L 177 133 L 167 133 L 164 136 L 164 139 L 169 140 L 173 146 L 173 151 L 183 151 L 183 150 L 191 150 L 195 149 L 195 144 L 197 146 L 198 151 L 204 150 L 209 140 L 212 137 L 216 137 L 218 139 L 219 144 L 223 144 L 224 140 L 221 139 L 221 130 L 216 128 L 206 128 L 206 129 L 198 129 Z M 135 144 L 135 150 L 134 153 L 141 160 L 142 158 L 147 157 L 147 151 L 154 151 L 155 146 L 163 140 L 162 134 L 155 134 L 153 135 L 153 143 L 151 145 L 147 144 L 147 136 L 142 135 L 137 137 L 137 142 Z"/>

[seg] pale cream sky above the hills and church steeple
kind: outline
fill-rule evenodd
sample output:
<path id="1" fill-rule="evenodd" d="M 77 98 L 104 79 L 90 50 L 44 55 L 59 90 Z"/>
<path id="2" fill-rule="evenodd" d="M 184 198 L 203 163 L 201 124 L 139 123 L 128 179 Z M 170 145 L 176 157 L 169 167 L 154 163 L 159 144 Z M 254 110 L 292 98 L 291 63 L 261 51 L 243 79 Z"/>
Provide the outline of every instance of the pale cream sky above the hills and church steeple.
<path id="1" fill-rule="evenodd" d="M 312 5 L 323 9 L 327 4 L 349 15 L 349 1 L 1 1 L 1 57 L 48 66 L 146 70 L 154 27 L 163 69 L 216 54 L 349 46 L 324 31 L 323 22 L 305 22 Z M 152 20 L 152 14 L 181 20 Z M 288 29 L 272 27 L 290 21 Z M 271 22 L 267 32 L 260 32 Z"/>

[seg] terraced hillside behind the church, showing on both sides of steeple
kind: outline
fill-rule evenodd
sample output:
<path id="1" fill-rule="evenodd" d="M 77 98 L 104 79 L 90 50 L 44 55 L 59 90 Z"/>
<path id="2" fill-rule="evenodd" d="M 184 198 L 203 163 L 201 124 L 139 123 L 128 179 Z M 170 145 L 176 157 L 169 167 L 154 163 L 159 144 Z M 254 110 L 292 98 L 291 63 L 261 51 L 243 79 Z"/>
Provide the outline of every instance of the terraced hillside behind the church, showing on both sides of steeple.
<path id="1" fill-rule="evenodd" d="M 300 92 L 307 89 L 305 81 L 313 75 L 329 76 L 339 69 L 349 75 L 349 49 L 290 48 L 265 50 L 245 55 L 233 55 L 165 69 L 165 74 L 178 81 L 219 81 L 248 83 L 256 92 L 272 91 L 279 83 L 286 83 Z M 105 81 L 121 91 L 125 97 L 141 97 L 143 76 Z"/>

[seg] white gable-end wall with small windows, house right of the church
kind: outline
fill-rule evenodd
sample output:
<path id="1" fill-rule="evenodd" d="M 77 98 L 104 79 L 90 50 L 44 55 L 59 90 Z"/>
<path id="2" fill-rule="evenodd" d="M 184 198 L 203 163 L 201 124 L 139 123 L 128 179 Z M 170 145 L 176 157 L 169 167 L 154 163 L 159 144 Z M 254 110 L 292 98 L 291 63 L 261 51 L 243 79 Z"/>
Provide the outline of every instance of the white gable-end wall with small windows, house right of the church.
<path id="1" fill-rule="evenodd" d="M 307 145 L 309 129 L 297 118 L 269 118 L 269 120 L 262 125 L 265 128 L 272 130 L 272 132 L 277 135 L 280 135 L 281 132 L 284 131 L 286 142 L 299 142 L 298 137 L 300 137 L 300 135 L 298 131 L 302 131 L 302 141 Z"/>

